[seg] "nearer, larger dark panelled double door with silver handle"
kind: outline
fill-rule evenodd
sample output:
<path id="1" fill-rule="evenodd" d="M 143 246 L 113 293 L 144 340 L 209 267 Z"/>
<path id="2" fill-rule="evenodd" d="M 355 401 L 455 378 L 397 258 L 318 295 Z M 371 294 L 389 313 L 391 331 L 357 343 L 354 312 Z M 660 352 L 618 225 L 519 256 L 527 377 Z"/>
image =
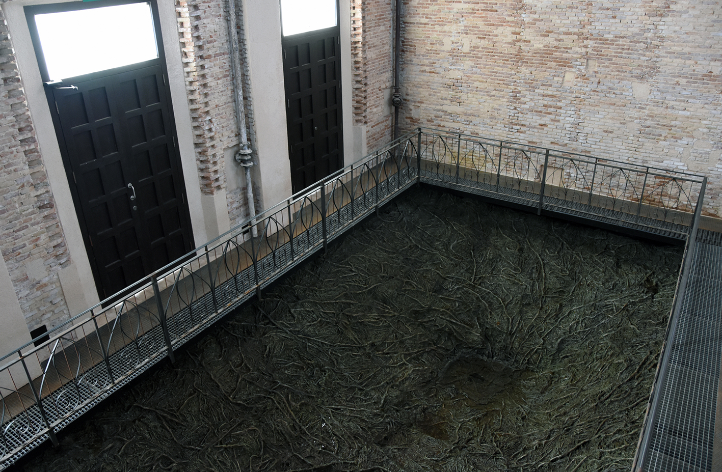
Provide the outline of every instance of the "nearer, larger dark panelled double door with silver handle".
<path id="1" fill-rule="evenodd" d="M 192 250 L 193 240 L 162 66 L 93 77 L 64 81 L 48 99 L 105 298 Z"/>

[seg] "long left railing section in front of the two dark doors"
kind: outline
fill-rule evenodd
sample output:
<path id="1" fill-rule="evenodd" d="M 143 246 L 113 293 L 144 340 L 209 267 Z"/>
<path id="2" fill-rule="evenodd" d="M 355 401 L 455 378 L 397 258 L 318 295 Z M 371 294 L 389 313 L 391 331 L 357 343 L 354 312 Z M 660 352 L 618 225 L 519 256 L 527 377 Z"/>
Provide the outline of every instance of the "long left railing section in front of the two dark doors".
<path id="1" fill-rule="evenodd" d="M 0 359 L 0 468 L 417 183 L 407 134 Z M 252 229 L 258 230 L 253 236 Z"/>

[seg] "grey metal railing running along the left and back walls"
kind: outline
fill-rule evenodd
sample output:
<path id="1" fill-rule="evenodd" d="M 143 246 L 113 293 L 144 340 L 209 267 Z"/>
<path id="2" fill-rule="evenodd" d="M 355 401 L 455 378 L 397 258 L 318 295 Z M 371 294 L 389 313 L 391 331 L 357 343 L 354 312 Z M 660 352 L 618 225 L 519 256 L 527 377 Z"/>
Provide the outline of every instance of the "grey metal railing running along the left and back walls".
<path id="1" fill-rule="evenodd" d="M 421 182 L 679 237 L 705 185 L 684 172 L 418 128 L 156 271 L 119 302 L 59 325 L 49 341 L 0 358 L 0 468 L 57 443 L 71 421 Z"/>

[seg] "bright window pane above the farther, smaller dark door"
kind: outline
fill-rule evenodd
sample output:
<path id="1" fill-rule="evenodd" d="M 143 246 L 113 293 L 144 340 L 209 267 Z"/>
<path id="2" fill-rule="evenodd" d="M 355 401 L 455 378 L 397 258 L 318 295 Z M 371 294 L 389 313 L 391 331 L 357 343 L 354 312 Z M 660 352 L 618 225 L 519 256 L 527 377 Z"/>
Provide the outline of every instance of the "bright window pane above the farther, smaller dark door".
<path id="1" fill-rule="evenodd" d="M 283 35 L 336 26 L 336 0 L 281 0 Z"/>

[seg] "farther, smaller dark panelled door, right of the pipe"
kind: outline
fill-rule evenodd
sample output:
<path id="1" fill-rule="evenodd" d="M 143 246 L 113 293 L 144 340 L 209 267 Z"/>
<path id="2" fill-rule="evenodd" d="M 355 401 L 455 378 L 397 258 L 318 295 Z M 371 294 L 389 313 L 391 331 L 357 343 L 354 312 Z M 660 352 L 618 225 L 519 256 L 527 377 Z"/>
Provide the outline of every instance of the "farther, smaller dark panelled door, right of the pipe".
<path id="1" fill-rule="evenodd" d="M 338 26 L 283 38 L 294 193 L 343 166 L 339 38 Z"/>

